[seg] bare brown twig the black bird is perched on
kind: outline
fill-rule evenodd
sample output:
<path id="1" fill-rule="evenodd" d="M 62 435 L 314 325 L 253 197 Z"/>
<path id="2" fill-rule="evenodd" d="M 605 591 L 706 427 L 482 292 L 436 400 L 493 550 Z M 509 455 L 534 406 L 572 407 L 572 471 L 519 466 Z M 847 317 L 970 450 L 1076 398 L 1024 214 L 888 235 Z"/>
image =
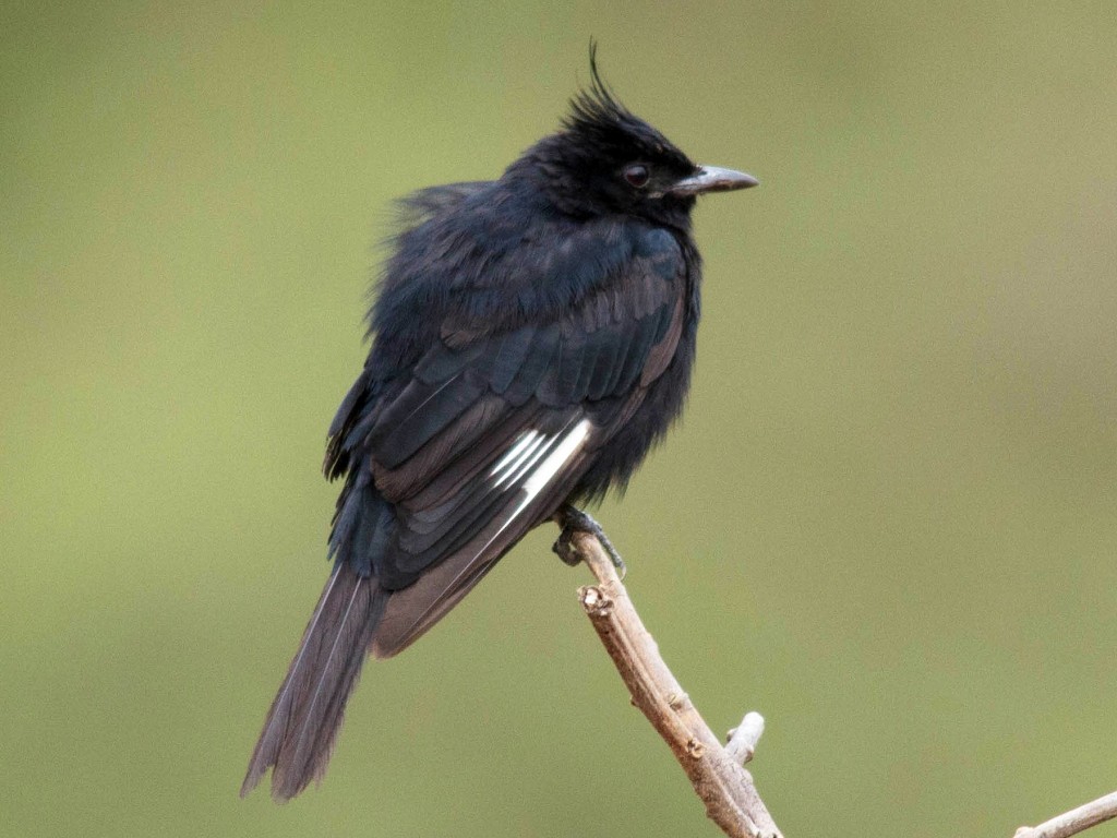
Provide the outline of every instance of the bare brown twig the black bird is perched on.
<path id="1" fill-rule="evenodd" d="M 565 544 L 584 561 L 596 585 L 580 589 L 598 637 L 632 695 L 632 703 L 648 717 L 687 772 L 706 813 L 732 838 L 782 838 L 756 792 L 752 775 L 742 766 L 756 747 L 764 729 L 760 714 L 748 714 L 723 747 L 670 669 L 656 641 L 637 615 L 628 591 L 598 540 L 572 532 Z"/>

